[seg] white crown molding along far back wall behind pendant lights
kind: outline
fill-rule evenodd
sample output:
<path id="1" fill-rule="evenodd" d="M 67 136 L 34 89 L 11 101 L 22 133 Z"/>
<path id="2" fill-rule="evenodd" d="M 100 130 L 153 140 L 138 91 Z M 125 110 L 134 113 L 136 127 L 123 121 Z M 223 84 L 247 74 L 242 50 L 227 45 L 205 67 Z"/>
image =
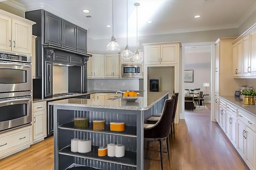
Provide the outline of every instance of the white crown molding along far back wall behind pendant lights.
<path id="1" fill-rule="evenodd" d="M 152 32 L 152 33 L 138 33 L 138 37 L 144 36 L 153 36 L 153 35 L 166 35 L 166 34 L 176 34 L 176 33 L 190 33 L 190 32 L 200 32 L 200 31 L 213 31 L 213 30 L 220 30 L 220 29 L 233 29 L 238 28 L 236 24 L 230 25 L 218 25 L 218 26 L 210 26 L 210 27 L 197 27 L 197 28 L 188 28 L 188 29 L 173 29 L 168 31 L 159 31 L 159 32 Z M 93 40 L 100 40 L 100 39 L 110 39 L 112 35 L 108 36 L 96 36 L 90 37 Z M 119 34 L 114 35 L 115 38 L 126 38 L 126 35 Z M 136 36 L 130 36 L 136 37 Z"/>

